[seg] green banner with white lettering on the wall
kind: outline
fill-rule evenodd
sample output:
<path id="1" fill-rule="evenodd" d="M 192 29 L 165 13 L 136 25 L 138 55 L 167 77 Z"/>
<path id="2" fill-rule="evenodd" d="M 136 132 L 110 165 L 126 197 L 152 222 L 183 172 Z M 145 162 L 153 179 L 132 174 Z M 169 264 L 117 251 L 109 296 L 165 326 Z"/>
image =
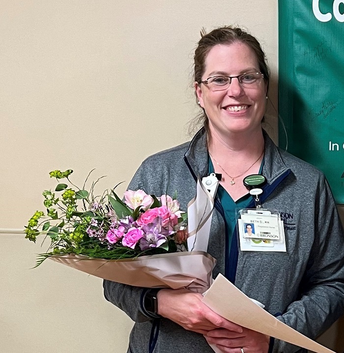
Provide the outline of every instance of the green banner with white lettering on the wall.
<path id="1" fill-rule="evenodd" d="M 279 145 L 344 204 L 344 1 L 279 0 Z"/>

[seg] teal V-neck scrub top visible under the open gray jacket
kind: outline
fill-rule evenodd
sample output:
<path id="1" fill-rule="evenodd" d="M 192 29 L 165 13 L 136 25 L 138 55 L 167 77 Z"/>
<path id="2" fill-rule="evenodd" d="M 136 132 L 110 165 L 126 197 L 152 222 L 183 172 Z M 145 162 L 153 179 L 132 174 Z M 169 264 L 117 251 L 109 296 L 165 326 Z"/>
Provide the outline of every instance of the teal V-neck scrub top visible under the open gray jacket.
<path id="1" fill-rule="evenodd" d="M 258 174 L 261 174 L 263 170 L 263 166 L 264 166 L 264 158 L 261 162 Z M 208 173 L 209 174 L 214 173 L 214 166 L 209 155 L 208 155 Z M 228 239 L 229 254 L 230 254 L 230 244 L 231 244 L 232 236 L 236 226 L 235 209 L 246 208 L 251 202 L 252 196 L 250 194 L 247 194 L 241 197 L 236 202 L 234 202 L 234 200 L 230 197 L 229 193 L 220 184 L 217 189 L 216 195 L 219 197 L 221 205 L 225 212 L 225 223 L 226 223 L 226 233 L 227 233 L 226 235 Z"/>

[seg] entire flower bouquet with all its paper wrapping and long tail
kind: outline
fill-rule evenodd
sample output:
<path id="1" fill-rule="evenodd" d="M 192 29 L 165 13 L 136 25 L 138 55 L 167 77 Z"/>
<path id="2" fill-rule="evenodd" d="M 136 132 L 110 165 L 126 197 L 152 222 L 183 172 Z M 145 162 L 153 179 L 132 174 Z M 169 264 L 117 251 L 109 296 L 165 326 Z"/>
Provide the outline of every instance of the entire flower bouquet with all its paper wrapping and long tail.
<path id="1" fill-rule="evenodd" d="M 205 251 L 214 200 L 200 181 L 186 215 L 179 209 L 176 196 L 156 197 L 143 190 L 128 190 L 122 201 L 114 190 L 106 190 L 102 196 L 94 197 L 93 189 L 99 179 L 87 191 L 88 176 L 83 188 L 79 188 L 69 179 L 72 172 L 69 169 L 50 173 L 57 180 L 65 178 L 76 190 L 58 183 L 55 192 L 44 191 L 46 215 L 36 211 L 25 227 L 29 240 L 36 241 L 38 235 L 51 240 L 48 252 L 38 255 L 36 266 L 52 259 L 132 286 L 188 288 L 199 293 L 209 289 L 216 261 Z M 56 193 L 61 195 L 57 197 Z M 228 295 L 230 301 L 226 299 Z M 236 324 L 315 352 L 332 352 L 278 322 L 252 300 L 222 275 L 203 299 L 212 310 Z M 263 315 L 261 321 L 252 320 L 252 315 L 243 316 L 243 307 L 246 313 Z M 214 345 L 210 347 L 220 352 Z"/>

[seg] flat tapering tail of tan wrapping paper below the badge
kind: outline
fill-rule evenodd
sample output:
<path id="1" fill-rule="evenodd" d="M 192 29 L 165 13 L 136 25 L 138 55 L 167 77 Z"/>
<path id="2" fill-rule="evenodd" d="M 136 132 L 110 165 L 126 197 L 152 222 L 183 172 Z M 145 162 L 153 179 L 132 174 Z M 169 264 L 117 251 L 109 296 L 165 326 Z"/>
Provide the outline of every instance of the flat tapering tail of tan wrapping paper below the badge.
<path id="1" fill-rule="evenodd" d="M 225 319 L 316 353 L 334 353 L 282 323 L 219 274 L 202 299 Z M 215 352 L 220 352 L 216 351 Z"/>

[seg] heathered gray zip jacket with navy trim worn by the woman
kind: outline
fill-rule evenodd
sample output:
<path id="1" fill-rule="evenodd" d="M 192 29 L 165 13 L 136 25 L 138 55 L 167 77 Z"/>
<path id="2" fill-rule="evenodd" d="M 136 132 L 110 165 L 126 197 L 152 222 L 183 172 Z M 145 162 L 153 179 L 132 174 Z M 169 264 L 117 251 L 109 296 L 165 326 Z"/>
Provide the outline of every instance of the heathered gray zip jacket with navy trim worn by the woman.
<path id="1" fill-rule="evenodd" d="M 262 174 L 268 183 L 261 201 L 281 213 L 287 252 L 241 252 L 234 231 L 229 253 L 224 212 L 216 199 L 208 246 L 208 253 L 217 259 L 213 276 L 221 272 L 243 293 L 263 303 L 270 314 L 315 339 L 344 312 L 343 227 L 323 174 L 280 150 L 265 132 L 264 139 Z M 148 157 L 128 188 L 157 196 L 176 191 L 181 209 L 186 210 L 196 193 L 197 176 L 207 172 L 206 133 L 201 129 L 191 143 Z M 253 202 L 250 207 L 254 208 Z M 127 352 L 151 352 L 153 320 L 144 315 L 144 289 L 106 280 L 103 286 L 106 299 L 135 321 Z M 213 352 L 201 334 L 170 320 L 155 320 L 154 329 L 155 353 Z M 270 352 L 307 351 L 275 340 Z"/>

